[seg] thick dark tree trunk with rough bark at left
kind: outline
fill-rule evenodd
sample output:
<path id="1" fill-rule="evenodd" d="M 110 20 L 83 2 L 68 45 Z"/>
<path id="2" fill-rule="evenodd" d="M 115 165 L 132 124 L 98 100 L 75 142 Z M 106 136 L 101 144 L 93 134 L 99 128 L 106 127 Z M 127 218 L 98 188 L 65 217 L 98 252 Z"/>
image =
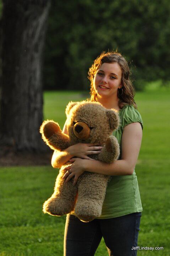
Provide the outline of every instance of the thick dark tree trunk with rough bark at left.
<path id="1" fill-rule="evenodd" d="M 0 144 L 15 151 L 44 148 L 42 53 L 49 0 L 4 0 Z"/>

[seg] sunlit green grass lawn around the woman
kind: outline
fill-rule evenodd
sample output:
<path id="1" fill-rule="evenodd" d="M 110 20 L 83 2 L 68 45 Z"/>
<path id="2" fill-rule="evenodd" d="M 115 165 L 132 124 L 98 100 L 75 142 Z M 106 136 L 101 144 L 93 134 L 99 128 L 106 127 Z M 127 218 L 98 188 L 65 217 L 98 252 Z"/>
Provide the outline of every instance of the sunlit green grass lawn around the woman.
<path id="1" fill-rule="evenodd" d="M 81 92 L 45 92 L 44 119 L 65 122 L 68 101 L 87 96 Z M 139 246 L 163 246 L 164 250 L 138 251 L 138 256 L 170 255 L 170 90 L 146 90 L 136 94 L 144 123 L 136 165 L 143 204 Z M 64 217 L 42 212 L 53 192 L 57 170 L 49 166 L 0 168 L 0 256 L 62 256 Z M 108 255 L 104 241 L 97 256 Z"/>

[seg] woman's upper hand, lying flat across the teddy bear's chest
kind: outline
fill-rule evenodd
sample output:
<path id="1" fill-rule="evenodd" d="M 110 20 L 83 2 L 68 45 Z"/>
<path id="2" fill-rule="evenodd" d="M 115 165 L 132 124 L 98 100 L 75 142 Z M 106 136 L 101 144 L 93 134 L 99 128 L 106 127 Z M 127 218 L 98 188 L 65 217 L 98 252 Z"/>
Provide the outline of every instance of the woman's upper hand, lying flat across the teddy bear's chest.
<path id="1" fill-rule="evenodd" d="M 70 155 L 77 156 L 77 158 L 91 159 L 88 155 L 99 154 L 103 147 L 98 144 L 77 143 L 68 148 Z"/>

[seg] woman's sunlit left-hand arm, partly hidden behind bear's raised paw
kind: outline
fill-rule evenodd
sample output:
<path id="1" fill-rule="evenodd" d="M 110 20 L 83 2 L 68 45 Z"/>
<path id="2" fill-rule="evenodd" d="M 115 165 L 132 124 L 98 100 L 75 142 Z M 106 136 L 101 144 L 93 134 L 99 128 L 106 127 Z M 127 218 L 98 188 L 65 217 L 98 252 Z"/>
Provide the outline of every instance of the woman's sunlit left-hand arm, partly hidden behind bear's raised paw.
<path id="1" fill-rule="evenodd" d="M 66 122 L 64 124 L 62 132 L 68 135 Z M 73 156 L 82 159 L 91 159 L 88 157 L 88 155 L 99 154 L 101 149 L 102 147 L 99 145 L 97 146 L 87 143 L 78 143 L 76 145 L 68 147 L 63 151 L 55 150 L 51 159 L 51 165 L 54 168 L 60 168 L 62 165 L 68 162 Z"/>

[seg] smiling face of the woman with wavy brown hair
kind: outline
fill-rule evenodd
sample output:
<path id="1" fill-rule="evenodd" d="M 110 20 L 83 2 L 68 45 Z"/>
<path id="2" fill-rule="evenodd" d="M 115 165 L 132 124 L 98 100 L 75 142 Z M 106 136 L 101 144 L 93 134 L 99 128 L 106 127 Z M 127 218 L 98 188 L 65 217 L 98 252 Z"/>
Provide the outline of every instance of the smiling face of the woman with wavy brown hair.
<path id="1" fill-rule="evenodd" d="M 98 96 L 117 95 L 121 88 L 122 70 L 117 62 L 103 63 L 93 79 L 93 87 Z"/>

